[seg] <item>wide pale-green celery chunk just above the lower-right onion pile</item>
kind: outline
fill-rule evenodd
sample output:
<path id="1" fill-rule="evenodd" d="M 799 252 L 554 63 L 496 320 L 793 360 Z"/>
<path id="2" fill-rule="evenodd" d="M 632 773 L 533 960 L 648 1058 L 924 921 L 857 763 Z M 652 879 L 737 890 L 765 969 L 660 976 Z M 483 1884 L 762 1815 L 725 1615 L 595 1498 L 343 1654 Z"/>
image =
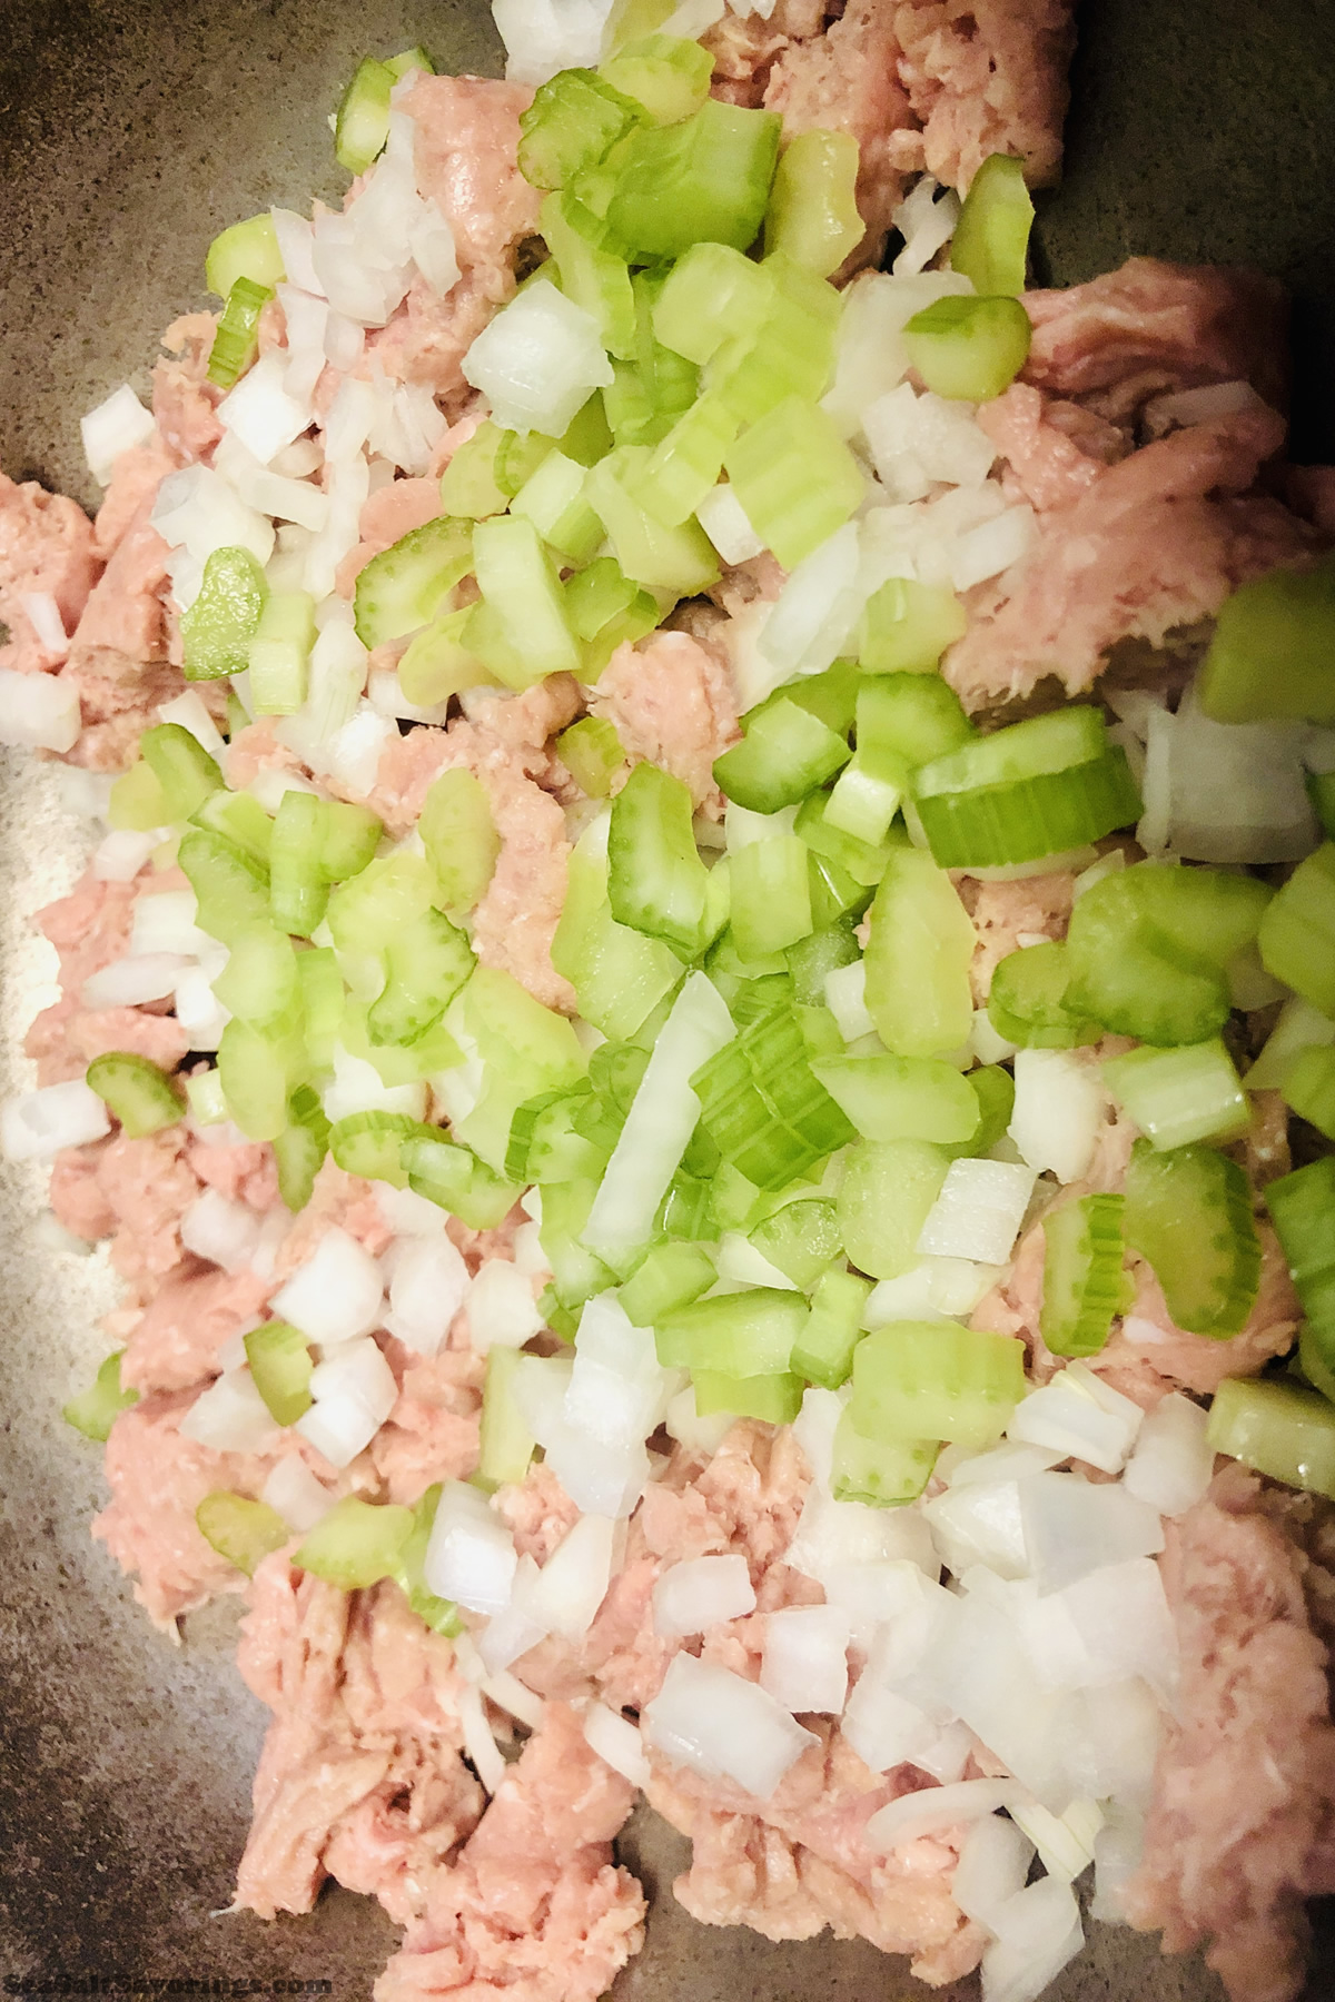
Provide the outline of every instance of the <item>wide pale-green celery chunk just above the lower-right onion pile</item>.
<path id="1" fill-rule="evenodd" d="M 1025 1343 L 957 1321 L 893 1321 L 853 1351 L 851 1423 L 867 1439 L 999 1439 L 1025 1395 Z"/>

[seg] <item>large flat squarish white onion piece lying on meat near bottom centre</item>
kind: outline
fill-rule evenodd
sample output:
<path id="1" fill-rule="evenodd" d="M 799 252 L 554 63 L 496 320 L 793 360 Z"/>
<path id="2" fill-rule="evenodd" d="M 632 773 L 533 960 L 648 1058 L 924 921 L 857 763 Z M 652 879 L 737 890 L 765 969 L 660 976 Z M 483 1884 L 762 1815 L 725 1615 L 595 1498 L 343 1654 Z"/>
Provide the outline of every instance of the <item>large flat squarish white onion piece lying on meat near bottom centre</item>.
<path id="1" fill-rule="evenodd" d="M 757 1682 L 677 1654 L 644 1706 L 648 1744 L 707 1780 L 725 1774 L 769 1800 L 785 1772 L 819 1744 Z"/>

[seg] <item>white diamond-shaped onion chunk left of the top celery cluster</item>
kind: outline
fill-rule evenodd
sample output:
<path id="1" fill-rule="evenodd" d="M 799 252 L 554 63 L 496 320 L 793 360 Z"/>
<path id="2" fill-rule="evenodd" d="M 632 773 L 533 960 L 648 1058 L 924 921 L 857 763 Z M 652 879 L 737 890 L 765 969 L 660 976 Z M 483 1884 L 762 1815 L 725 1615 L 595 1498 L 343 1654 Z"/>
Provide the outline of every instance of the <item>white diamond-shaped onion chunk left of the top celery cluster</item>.
<path id="1" fill-rule="evenodd" d="M 594 388 L 612 380 L 596 322 L 546 278 L 490 320 L 462 358 L 506 430 L 560 436 Z"/>

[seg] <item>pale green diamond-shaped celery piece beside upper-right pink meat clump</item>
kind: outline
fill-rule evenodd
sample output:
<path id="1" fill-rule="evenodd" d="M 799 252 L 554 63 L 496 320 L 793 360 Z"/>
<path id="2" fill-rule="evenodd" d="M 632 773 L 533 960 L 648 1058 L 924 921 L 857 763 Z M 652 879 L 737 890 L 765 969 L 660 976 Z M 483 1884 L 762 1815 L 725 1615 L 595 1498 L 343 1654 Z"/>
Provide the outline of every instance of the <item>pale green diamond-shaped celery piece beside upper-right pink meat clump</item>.
<path id="1" fill-rule="evenodd" d="M 787 571 L 841 529 L 867 490 L 833 418 L 801 396 L 751 424 L 723 464 L 755 533 Z"/>

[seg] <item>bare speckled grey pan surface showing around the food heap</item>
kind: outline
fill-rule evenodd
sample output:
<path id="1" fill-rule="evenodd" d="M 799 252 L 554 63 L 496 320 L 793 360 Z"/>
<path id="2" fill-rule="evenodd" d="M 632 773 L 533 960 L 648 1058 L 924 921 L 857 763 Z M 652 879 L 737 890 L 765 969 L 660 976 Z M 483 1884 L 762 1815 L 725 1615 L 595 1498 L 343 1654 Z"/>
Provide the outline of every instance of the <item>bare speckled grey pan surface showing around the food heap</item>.
<path id="1" fill-rule="evenodd" d="M 893 4 L 893 0 L 883 0 Z M 1335 0 L 1095 0 L 1083 10 L 1069 174 L 1041 216 L 1055 282 L 1133 250 L 1237 258 L 1299 294 L 1297 452 L 1335 456 Z M 0 0 L 0 464 L 92 498 L 78 412 L 198 304 L 210 236 L 240 214 L 334 194 L 324 114 L 364 48 L 424 42 L 446 68 L 496 68 L 480 0 Z M 78 831 L 50 773 L 2 769 L 0 1091 L 26 1081 L 18 1033 L 50 995 L 26 915 L 60 895 Z M 214 1916 L 246 1828 L 260 1710 L 232 1670 L 232 1608 L 180 1652 L 88 1542 L 96 1455 L 58 1405 L 100 1353 L 100 1255 L 36 1235 L 42 1177 L 0 1201 L 0 1988 L 136 1994 L 176 1978 L 328 1982 L 368 2002 L 392 1930 L 342 1892 L 306 1920 Z M 685 1844 L 652 1818 L 622 1858 L 658 1892 L 624 2002 L 927 1990 L 863 1944 L 771 1946 L 697 1928 L 671 1898 Z M 1053 2002 L 1217 2002 L 1197 1960 L 1093 1928 Z M 1335 1994 L 1321 1942 L 1309 2002 Z M 180 1990 L 176 1990 L 180 1992 Z M 220 1990 L 214 1990 L 220 1992 Z M 973 1984 L 949 1990 L 955 2002 Z"/>

